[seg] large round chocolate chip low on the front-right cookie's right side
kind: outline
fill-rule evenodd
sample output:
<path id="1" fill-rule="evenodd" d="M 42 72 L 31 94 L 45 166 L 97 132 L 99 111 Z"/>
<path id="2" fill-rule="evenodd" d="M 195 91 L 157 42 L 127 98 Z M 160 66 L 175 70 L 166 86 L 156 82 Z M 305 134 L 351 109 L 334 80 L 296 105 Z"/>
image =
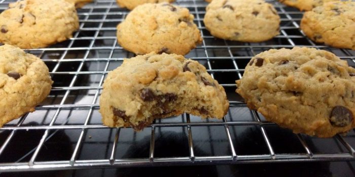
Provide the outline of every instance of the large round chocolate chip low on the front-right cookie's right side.
<path id="1" fill-rule="evenodd" d="M 330 114 L 330 123 L 334 126 L 344 127 L 352 122 L 352 113 L 344 106 L 335 106 Z"/>

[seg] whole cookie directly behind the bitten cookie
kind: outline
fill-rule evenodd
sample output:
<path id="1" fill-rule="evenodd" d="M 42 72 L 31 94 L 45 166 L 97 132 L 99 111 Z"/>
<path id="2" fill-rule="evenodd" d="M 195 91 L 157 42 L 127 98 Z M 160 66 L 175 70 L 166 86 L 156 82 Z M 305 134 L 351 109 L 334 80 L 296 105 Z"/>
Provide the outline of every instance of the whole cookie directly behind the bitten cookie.
<path id="1" fill-rule="evenodd" d="M 168 3 L 140 5 L 117 26 L 117 40 L 135 54 L 185 55 L 202 41 L 193 19 L 188 9 Z"/>

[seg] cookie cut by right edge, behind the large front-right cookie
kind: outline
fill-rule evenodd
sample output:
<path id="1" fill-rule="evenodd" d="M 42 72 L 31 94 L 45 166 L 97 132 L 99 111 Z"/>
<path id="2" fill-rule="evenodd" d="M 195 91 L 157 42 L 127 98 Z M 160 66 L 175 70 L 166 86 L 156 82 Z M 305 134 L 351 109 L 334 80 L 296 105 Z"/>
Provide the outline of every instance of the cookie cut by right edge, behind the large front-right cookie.
<path id="1" fill-rule="evenodd" d="M 305 12 L 302 31 L 313 41 L 355 50 L 355 2 L 329 2 Z"/>

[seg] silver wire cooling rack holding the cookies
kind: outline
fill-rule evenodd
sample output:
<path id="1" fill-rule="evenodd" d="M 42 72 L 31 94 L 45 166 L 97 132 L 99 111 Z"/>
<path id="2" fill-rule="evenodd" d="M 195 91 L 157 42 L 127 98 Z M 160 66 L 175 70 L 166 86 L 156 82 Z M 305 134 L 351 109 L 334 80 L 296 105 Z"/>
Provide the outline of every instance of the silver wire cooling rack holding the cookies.
<path id="1" fill-rule="evenodd" d="M 13 1 L 2 1 L 5 10 Z M 247 62 L 269 49 L 308 46 L 333 52 L 354 66 L 355 52 L 314 43 L 300 31 L 302 13 L 276 1 L 280 35 L 261 43 L 216 39 L 203 24 L 203 0 L 177 0 L 195 16 L 202 45 L 186 58 L 199 61 L 224 86 L 230 108 L 222 120 L 183 114 L 158 119 L 141 132 L 101 124 L 98 98 L 107 73 L 134 54 L 116 41 L 116 25 L 129 11 L 114 0 L 97 0 L 78 10 L 74 37 L 45 49 L 26 50 L 48 66 L 48 98 L 0 128 L 0 171 L 133 166 L 238 164 L 355 160 L 355 132 L 319 139 L 293 134 L 249 110 L 235 93 Z"/>

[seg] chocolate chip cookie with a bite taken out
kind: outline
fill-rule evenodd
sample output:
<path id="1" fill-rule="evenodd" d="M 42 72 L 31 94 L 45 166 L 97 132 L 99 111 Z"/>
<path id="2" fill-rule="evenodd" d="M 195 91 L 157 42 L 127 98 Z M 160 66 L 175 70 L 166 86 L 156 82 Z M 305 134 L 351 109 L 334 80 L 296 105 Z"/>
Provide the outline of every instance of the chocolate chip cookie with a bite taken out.
<path id="1" fill-rule="evenodd" d="M 201 64 L 165 53 L 125 59 L 109 72 L 100 96 L 104 125 L 136 130 L 183 112 L 222 118 L 228 106 L 223 87 Z"/>

